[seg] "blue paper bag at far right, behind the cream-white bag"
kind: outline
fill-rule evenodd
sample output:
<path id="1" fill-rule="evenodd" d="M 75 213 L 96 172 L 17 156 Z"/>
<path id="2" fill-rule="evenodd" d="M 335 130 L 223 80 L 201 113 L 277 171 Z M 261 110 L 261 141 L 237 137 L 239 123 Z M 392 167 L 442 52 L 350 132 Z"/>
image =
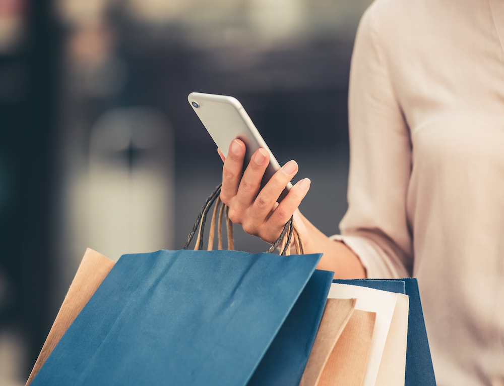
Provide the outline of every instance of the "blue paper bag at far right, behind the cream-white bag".
<path id="1" fill-rule="evenodd" d="M 409 297 L 408 337 L 405 364 L 405 386 L 435 386 L 435 375 L 430 356 L 427 330 L 416 278 L 351 279 L 334 283 L 365 286 L 378 290 L 406 294 Z"/>

